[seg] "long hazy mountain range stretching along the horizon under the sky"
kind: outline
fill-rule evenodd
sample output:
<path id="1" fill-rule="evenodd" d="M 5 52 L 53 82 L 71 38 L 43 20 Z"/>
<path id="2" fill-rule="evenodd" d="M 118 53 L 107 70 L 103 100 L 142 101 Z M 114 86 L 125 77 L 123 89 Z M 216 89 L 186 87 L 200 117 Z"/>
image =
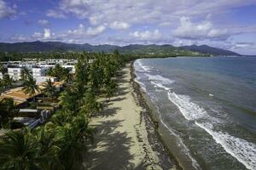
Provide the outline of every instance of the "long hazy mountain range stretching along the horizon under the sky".
<path id="1" fill-rule="evenodd" d="M 133 55 L 152 55 L 152 56 L 176 56 L 176 55 L 204 55 L 204 54 L 222 54 L 222 55 L 239 55 L 234 52 L 212 48 L 207 45 L 202 46 L 183 46 L 174 47 L 170 44 L 164 45 L 143 45 L 143 44 L 130 44 L 127 46 L 115 46 L 115 45 L 91 45 L 89 43 L 75 44 L 65 42 L 15 42 L 5 43 L 0 42 L 0 52 L 67 52 L 67 51 L 88 51 L 88 52 L 100 52 L 106 53 L 113 52 L 114 49 L 118 49 L 122 54 Z"/>

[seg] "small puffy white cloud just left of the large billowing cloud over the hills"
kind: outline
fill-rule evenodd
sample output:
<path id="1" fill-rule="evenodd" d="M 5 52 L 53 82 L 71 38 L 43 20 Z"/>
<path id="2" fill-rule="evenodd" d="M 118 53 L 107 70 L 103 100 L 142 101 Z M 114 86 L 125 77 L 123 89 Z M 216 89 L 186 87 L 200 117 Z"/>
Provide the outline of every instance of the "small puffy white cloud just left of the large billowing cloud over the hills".
<path id="1" fill-rule="evenodd" d="M 134 31 L 130 33 L 131 37 L 136 38 L 142 42 L 157 42 L 162 38 L 162 34 L 159 30 L 154 31 Z"/>

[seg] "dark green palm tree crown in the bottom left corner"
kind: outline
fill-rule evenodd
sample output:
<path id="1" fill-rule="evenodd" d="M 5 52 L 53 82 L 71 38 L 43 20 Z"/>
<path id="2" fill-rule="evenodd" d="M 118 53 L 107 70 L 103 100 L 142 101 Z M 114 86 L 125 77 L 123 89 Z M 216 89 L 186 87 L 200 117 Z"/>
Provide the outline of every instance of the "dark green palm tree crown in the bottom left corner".
<path id="1" fill-rule="evenodd" d="M 38 144 L 27 132 L 11 131 L 0 141 L 3 169 L 38 169 Z"/>

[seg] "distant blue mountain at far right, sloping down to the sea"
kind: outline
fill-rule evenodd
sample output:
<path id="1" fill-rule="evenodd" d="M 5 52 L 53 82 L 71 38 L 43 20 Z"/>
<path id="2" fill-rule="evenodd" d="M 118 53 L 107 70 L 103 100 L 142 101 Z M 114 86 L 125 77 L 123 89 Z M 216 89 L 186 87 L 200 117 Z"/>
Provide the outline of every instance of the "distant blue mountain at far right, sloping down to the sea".
<path id="1" fill-rule="evenodd" d="M 212 48 L 210 46 L 207 45 L 191 45 L 191 46 L 182 46 L 179 47 L 181 49 L 187 49 L 190 51 L 196 51 L 196 52 L 200 52 L 202 54 L 213 54 L 213 55 L 241 55 L 241 54 L 237 54 L 235 52 L 229 51 L 229 50 L 225 50 L 225 49 L 221 49 L 221 48 Z"/>

